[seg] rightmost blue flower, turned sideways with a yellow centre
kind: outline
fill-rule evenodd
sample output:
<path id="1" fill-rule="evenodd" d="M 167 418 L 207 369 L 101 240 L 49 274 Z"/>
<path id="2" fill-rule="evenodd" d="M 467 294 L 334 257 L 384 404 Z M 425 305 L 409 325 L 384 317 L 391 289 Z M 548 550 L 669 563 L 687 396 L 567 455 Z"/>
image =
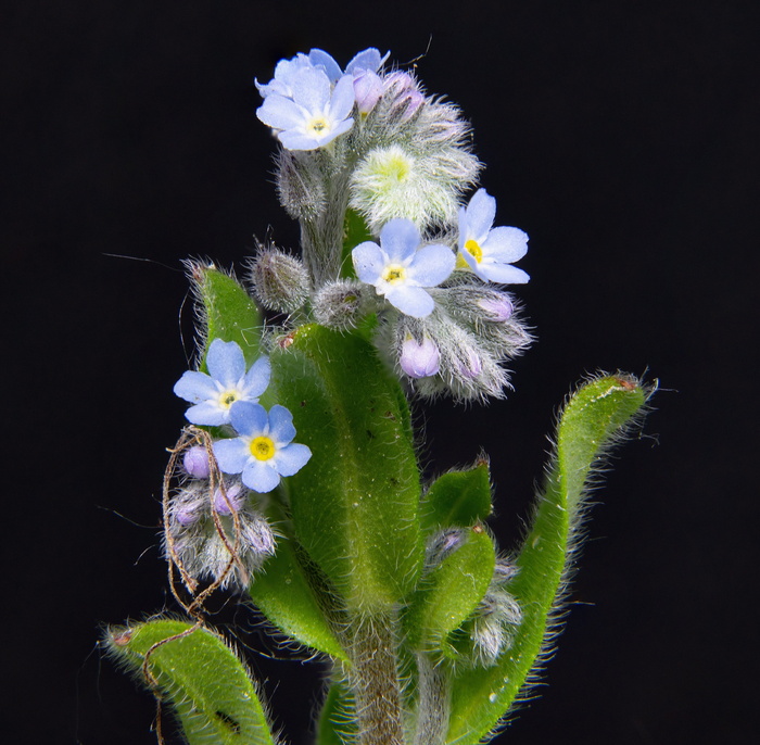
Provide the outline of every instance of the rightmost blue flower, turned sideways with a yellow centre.
<path id="1" fill-rule="evenodd" d="M 496 200 L 478 189 L 459 210 L 459 263 L 485 281 L 523 285 L 530 277 L 512 262 L 528 251 L 528 236 L 519 228 L 492 227 Z"/>

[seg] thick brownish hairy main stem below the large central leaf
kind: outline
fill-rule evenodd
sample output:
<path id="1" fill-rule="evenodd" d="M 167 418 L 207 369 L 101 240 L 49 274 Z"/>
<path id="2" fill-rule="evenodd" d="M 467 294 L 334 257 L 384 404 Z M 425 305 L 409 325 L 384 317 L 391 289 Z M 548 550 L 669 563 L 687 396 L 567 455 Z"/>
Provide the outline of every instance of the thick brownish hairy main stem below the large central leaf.
<path id="1" fill-rule="evenodd" d="M 393 620 L 391 613 L 376 614 L 349 630 L 358 745 L 404 745 Z"/>

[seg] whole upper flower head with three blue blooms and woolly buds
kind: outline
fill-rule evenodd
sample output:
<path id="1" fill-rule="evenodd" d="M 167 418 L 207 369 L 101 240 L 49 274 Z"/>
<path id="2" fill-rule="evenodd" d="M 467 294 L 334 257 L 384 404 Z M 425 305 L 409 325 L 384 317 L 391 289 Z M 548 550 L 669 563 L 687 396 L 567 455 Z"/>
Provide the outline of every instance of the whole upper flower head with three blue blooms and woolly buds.
<path id="1" fill-rule="evenodd" d="M 367 49 L 343 70 L 313 49 L 256 83 L 303 260 L 261 249 L 253 293 L 286 324 L 343 331 L 376 317 L 381 356 L 419 395 L 501 397 L 504 364 L 531 342 L 504 290 L 529 279 L 514 266 L 528 236 L 494 227 L 484 189 L 466 199 L 482 167 L 468 123 L 414 75 L 387 68 L 388 58 Z M 352 220 L 365 230 L 353 242 Z"/>

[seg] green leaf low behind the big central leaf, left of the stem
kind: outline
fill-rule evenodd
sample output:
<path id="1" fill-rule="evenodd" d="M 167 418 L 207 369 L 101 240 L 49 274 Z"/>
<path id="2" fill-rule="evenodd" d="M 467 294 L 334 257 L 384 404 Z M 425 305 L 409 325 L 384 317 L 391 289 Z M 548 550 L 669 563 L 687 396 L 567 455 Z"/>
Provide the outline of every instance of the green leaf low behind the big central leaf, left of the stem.
<path id="1" fill-rule="evenodd" d="M 266 618 L 283 633 L 313 649 L 349 661 L 325 615 L 328 593 L 320 592 L 292 540 L 279 539 L 277 552 L 256 572 L 251 597 Z"/>

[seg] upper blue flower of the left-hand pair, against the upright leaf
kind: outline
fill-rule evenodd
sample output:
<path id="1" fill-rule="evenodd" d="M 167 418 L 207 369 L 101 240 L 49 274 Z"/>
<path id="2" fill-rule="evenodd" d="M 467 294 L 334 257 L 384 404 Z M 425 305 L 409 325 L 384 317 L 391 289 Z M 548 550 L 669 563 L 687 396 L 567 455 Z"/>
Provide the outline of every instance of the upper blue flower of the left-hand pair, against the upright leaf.
<path id="1" fill-rule="evenodd" d="M 233 341 L 214 339 L 206 367 L 208 375 L 190 370 L 174 387 L 180 399 L 194 404 L 185 414 L 193 425 L 229 424 L 233 403 L 255 403 L 269 384 L 269 358 L 258 357 L 246 372 L 243 351 Z"/>

